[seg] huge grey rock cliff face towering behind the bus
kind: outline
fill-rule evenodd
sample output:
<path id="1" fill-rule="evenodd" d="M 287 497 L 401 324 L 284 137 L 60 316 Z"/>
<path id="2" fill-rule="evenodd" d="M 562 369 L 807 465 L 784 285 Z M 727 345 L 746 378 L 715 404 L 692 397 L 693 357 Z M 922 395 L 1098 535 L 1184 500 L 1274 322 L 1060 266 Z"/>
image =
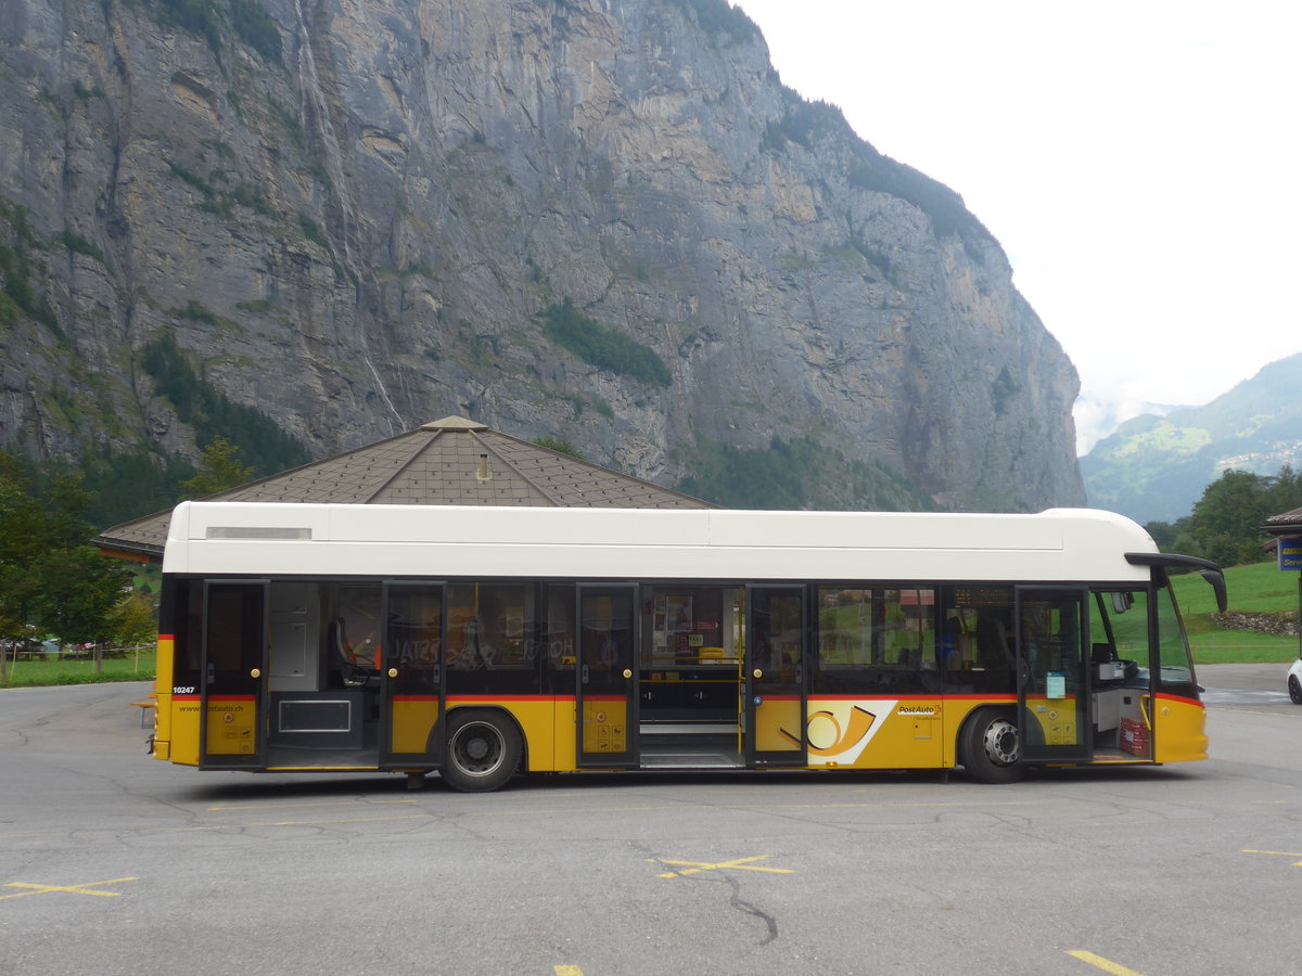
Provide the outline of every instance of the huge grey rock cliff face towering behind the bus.
<path id="1" fill-rule="evenodd" d="M 1083 502 L 997 242 L 723 0 L 0 0 L 0 197 L 29 453 L 193 457 L 171 337 L 315 455 L 462 414 L 667 485 L 776 439 L 810 504 Z"/>

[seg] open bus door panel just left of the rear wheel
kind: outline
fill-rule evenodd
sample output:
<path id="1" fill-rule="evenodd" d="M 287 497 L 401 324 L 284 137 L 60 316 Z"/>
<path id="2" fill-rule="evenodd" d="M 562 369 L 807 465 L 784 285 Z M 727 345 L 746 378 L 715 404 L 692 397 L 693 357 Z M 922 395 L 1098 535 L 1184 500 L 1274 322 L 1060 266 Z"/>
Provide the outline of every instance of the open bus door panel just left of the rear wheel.
<path id="1" fill-rule="evenodd" d="M 437 769 L 448 614 L 443 583 L 387 583 L 380 652 L 380 766 Z"/>

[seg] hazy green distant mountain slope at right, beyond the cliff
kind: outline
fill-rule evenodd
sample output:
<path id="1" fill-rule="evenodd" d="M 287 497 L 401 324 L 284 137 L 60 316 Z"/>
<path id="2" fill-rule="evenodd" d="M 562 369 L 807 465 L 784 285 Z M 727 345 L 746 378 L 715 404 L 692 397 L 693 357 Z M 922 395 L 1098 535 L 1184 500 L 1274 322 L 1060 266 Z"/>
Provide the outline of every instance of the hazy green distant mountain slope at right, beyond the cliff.
<path id="1" fill-rule="evenodd" d="M 1187 515 L 1223 471 L 1302 467 L 1302 353 L 1264 367 L 1207 406 L 1144 414 L 1081 458 L 1090 505 L 1138 522 Z"/>

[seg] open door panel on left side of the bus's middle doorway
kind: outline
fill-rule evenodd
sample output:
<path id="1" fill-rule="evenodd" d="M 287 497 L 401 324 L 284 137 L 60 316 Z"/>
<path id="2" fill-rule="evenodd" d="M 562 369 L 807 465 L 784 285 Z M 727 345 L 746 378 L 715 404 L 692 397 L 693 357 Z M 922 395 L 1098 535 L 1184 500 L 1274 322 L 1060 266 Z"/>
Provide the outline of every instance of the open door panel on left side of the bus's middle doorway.
<path id="1" fill-rule="evenodd" d="M 638 588 L 579 584 L 578 765 L 638 763 Z"/>

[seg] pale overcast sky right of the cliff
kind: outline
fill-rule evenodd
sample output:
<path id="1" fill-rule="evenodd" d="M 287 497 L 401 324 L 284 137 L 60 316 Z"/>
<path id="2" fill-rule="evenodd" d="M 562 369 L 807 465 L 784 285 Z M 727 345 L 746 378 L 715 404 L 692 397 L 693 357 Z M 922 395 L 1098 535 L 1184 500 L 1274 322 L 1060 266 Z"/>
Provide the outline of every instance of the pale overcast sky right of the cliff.
<path id="1" fill-rule="evenodd" d="M 788 86 L 1000 241 L 1081 373 L 1082 450 L 1302 351 L 1302 4 L 734 5 Z"/>

